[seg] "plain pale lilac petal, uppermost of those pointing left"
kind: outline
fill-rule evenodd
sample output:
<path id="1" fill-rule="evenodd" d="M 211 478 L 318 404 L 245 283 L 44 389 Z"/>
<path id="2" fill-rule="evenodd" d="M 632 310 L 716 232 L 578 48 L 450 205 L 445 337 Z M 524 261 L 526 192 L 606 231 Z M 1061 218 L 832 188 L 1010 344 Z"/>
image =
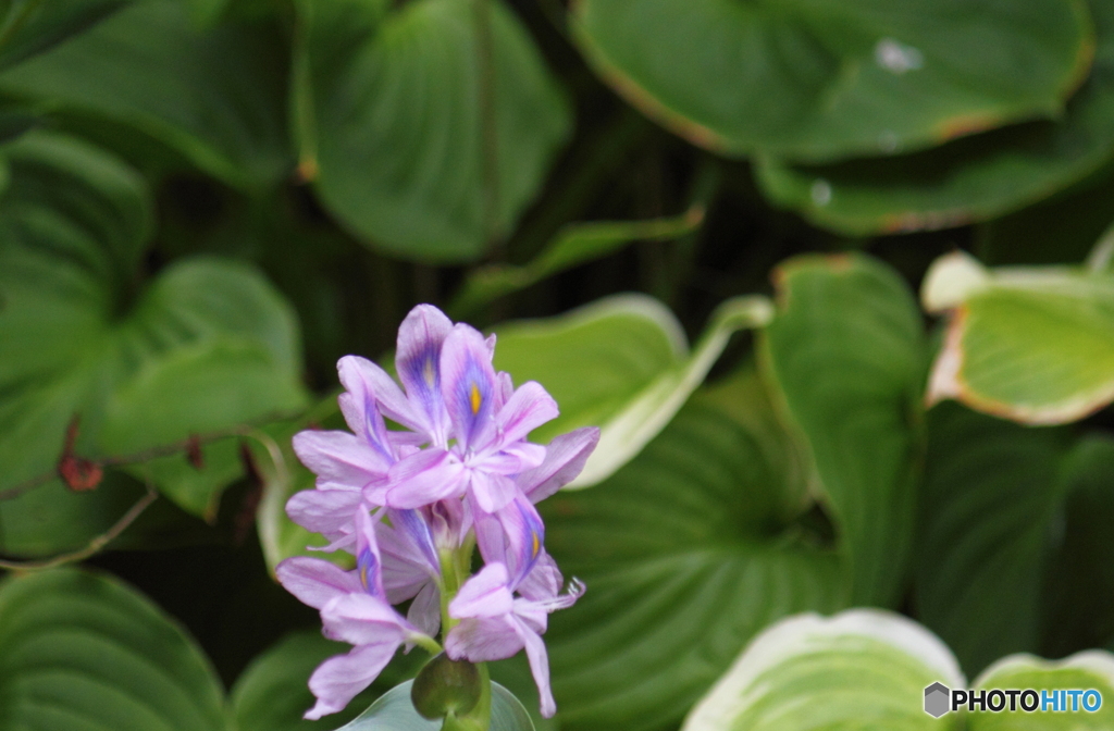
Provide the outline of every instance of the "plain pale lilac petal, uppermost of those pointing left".
<path id="1" fill-rule="evenodd" d="M 346 431 L 300 431 L 294 454 L 317 476 L 317 487 L 360 489 L 387 477 L 391 464 L 355 435 Z"/>

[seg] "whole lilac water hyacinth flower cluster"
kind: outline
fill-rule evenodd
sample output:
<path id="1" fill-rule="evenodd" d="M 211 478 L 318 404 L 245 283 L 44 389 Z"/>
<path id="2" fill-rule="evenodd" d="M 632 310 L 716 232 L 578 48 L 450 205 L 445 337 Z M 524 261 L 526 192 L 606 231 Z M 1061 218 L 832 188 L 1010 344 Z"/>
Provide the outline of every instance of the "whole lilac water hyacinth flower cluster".
<path id="1" fill-rule="evenodd" d="M 541 698 L 556 711 L 541 634 L 548 614 L 584 592 L 545 550 L 535 504 L 570 481 L 599 439 L 595 428 L 527 441 L 557 416 L 536 382 L 514 388 L 491 364 L 495 337 L 456 324 L 432 305 L 399 328 L 395 367 L 404 391 L 374 363 L 338 363 L 340 407 L 352 432 L 303 431 L 299 458 L 316 488 L 294 495 L 290 517 L 329 540 L 323 550 L 355 554 L 355 569 L 289 558 L 278 579 L 320 610 L 326 636 L 354 647 L 310 679 L 316 705 L 305 718 L 343 709 L 400 645 L 452 660 L 501 660 L 525 649 Z M 403 427 L 387 428 L 385 419 Z M 473 547 L 485 566 L 470 576 Z M 410 601 L 403 617 L 394 605 Z"/>

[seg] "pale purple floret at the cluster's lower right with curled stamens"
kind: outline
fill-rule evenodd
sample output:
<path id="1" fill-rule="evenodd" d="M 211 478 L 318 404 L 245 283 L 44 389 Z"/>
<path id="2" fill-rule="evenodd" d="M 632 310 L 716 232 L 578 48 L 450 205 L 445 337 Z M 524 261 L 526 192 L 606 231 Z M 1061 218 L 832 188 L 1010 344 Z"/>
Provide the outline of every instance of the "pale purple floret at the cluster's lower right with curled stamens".
<path id="1" fill-rule="evenodd" d="M 502 660 L 525 647 L 538 686 L 541 715 L 547 719 L 557 712 L 557 704 L 549 690 L 549 656 L 541 635 L 549 613 L 571 606 L 584 593 L 584 584 L 573 579 L 569 591 L 558 594 L 560 583 L 560 573 L 551 559 L 539 561 L 517 586 L 504 564 L 489 563 L 460 587 L 449 604 L 449 615 L 460 624 L 444 640 L 450 657 L 471 662 Z M 522 596 L 516 597 L 516 589 Z"/>

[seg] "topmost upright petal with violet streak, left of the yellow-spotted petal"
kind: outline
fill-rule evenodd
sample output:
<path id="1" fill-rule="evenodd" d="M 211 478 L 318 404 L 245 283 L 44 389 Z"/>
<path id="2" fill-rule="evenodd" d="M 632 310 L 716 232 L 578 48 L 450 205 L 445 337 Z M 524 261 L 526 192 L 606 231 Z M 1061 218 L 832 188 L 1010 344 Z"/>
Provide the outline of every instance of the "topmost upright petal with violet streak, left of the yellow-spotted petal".
<path id="1" fill-rule="evenodd" d="M 414 411 L 438 447 L 449 440 L 449 415 L 441 397 L 441 345 L 452 321 L 431 304 L 419 304 L 399 325 L 394 367 Z"/>

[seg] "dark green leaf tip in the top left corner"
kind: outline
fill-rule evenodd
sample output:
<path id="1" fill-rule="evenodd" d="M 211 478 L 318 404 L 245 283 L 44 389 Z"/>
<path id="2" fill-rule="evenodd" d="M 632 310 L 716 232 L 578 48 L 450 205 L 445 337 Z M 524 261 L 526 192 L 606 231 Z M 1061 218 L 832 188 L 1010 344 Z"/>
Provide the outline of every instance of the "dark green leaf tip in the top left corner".
<path id="1" fill-rule="evenodd" d="M 0 68 L 80 33 L 130 0 L 7 0 L 0 4 Z"/>

